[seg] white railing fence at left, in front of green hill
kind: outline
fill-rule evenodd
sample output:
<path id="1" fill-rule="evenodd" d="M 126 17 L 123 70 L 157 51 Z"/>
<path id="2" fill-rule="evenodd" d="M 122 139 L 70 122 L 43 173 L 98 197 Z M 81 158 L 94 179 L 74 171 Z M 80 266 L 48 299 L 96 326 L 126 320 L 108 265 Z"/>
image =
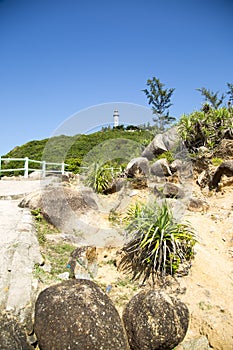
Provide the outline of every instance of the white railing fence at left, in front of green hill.
<path id="1" fill-rule="evenodd" d="M 17 169 L 7 169 L 6 165 L 7 165 L 7 163 L 9 163 L 11 161 L 24 162 L 23 163 L 24 166 L 22 168 L 17 168 Z M 4 169 L 2 169 L 2 163 L 4 164 Z M 30 163 L 40 164 L 40 168 L 39 169 L 32 168 L 29 166 Z M 40 171 L 42 177 L 45 177 L 46 173 L 53 173 L 53 174 L 57 173 L 57 174 L 64 175 L 65 166 L 67 166 L 67 165 L 68 164 L 65 164 L 64 162 L 62 162 L 62 163 L 50 163 L 50 162 L 46 162 L 46 161 L 29 159 L 28 157 L 25 157 L 25 158 L 2 158 L 0 156 L 0 176 L 1 176 L 1 173 L 15 172 L 15 171 L 24 171 L 25 179 L 28 178 L 28 174 L 31 171 Z"/>

